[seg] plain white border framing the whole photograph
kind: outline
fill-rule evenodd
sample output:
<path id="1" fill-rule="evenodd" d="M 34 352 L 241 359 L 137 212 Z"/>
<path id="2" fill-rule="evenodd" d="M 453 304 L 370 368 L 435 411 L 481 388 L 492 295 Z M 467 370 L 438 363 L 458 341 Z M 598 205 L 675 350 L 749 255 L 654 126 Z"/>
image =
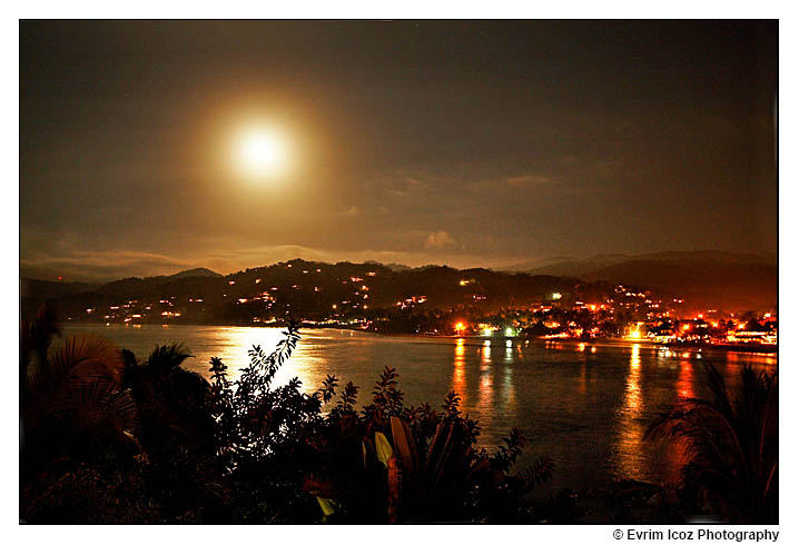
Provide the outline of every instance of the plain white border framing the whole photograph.
<path id="1" fill-rule="evenodd" d="M 788 10 L 788 2 L 751 2 L 751 1 L 672 1 L 667 4 L 657 2 L 614 1 L 614 2 L 570 2 L 568 7 L 559 3 L 533 4 L 527 2 L 422 2 L 406 1 L 394 4 L 378 4 L 377 2 L 155 2 L 151 0 L 130 3 L 118 2 L 30 2 L 10 8 L 10 13 L 3 13 L 2 36 L 6 47 L 2 49 L 4 62 L 8 67 L 6 95 L 3 103 L 2 127 L 4 128 L 4 146 L 2 146 L 3 167 L 7 170 L 6 189 L 0 200 L 0 218 L 2 218 L 3 255 L 9 261 L 2 268 L 2 330 L 8 346 L 18 344 L 18 306 L 19 306 L 19 19 L 37 18 L 159 18 L 159 19 L 203 19 L 203 18 L 268 18 L 268 19 L 468 19 L 468 18 L 692 18 L 692 19 L 738 19 L 758 18 L 780 20 L 780 382 L 788 382 L 789 388 L 795 387 L 796 373 L 792 366 L 797 356 L 797 343 L 791 339 L 796 331 L 797 317 L 795 308 L 799 304 L 797 289 L 791 285 L 796 278 L 791 272 L 796 270 L 795 255 L 797 247 L 795 240 L 799 235 L 796 212 L 796 184 L 799 177 L 796 172 L 796 156 L 793 129 L 796 127 L 796 36 L 799 31 L 792 12 Z M 132 10 L 131 10 L 132 8 Z M 13 311 L 11 311 L 13 309 Z M 7 378 L 14 377 L 17 356 L 13 350 L 7 351 Z M 16 379 L 7 379 L 8 390 L 14 390 Z M 789 433 L 789 426 L 795 422 L 796 409 L 790 397 L 783 393 L 781 407 L 781 458 L 791 460 L 796 453 L 796 442 Z M 106 541 L 118 544 L 140 545 L 142 537 L 155 537 L 159 541 L 179 538 L 191 543 L 214 543 L 223 539 L 229 541 L 248 537 L 258 541 L 299 541 L 333 543 L 366 543 L 379 542 L 385 544 L 407 545 L 408 539 L 418 537 L 424 542 L 445 543 L 457 537 L 467 537 L 470 541 L 497 541 L 503 538 L 522 539 L 522 543 L 543 541 L 555 543 L 562 541 L 580 539 L 581 543 L 620 543 L 612 537 L 615 526 L 413 526 L 413 527 L 319 527 L 319 526 L 269 526 L 257 527 L 125 527 L 92 526 L 92 527 L 46 527 L 18 525 L 18 446 L 17 446 L 17 396 L 3 396 L 3 430 L 4 444 L 2 449 L 3 479 L 8 486 L 3 487 L 3 534 L 9 543 L 36 543 L 38 539 L 51 541 L 56 537 L 59 543 L 80 542 L 87 538 Z M 781 468 L 780 515 L 782 524 L 779 529 L 781 543 L 792 543 L 796 538 L 792 517 L 792 492 L 797 489 L 797 472 L 793 464 L 785 464 Z M 13 526 L 13 527 L 9 527 Z M 623 527 L 622 527 L 623 528 Z M 664 529 L 663 526 L 641 526 L 641 528 Z M 684 528 L 684 526 L 680 526 Z M 693 528 L 693 527 L 692 527 Z M 718 527 L 716 527 L 718 528 Z M 731 529 L 747 529 L 748 527 L 728 527 Z M 751 529 L 762 529 L 752 527 Z M 33 539 L 33 542 L 31 542 Z M 627 542 L 627 539 L 621 541 Z"/>

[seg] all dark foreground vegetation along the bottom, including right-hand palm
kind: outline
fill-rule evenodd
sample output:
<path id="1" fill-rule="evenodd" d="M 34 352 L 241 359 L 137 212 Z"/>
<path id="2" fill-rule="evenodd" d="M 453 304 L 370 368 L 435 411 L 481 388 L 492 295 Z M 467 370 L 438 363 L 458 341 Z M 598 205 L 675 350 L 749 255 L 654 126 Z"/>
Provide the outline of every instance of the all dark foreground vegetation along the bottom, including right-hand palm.
<path id="1" fill-rule="evenodd" d="M 554 464 L 516 468 L 525 438 L 477 448 L 451 393 L 406 406 L 386 368 L 368 400 L 328 376 L 272 384 L 299 335 L 250 350 L 231 383 L 187 371 L 180 345 L 145 361 L 102 337 L 60 335 L 42 308 L 20 329 L 20 519 L 26 523 L 777 522 L 777 379 L 747 368 L 734 395 L 687 399 L 652 436 L 688 446 L 679 490 L 635 482 L 531 494 Z"/>

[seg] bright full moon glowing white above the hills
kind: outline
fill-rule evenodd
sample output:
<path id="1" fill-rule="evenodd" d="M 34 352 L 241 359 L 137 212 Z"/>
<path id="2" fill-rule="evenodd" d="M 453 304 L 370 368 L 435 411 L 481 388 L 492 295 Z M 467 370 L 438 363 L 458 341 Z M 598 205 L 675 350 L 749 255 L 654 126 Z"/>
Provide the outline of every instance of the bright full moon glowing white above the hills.
<path id="1" fill-rule="evenodd" d="M 274 129 L 250 128 L 243 131 L 235 149 L 238 167 L 248 177 L 274 178 L 286 169 L 286 142 Z"/>

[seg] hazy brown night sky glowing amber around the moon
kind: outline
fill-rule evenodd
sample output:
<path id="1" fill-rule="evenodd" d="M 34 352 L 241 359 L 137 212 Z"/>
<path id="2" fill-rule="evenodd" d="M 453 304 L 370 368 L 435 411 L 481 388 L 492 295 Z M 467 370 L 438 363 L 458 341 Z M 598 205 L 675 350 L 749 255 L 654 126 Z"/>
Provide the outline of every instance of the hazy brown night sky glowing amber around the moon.
<path id="1" fill-rule="evenodd" d="M 21 22 L 22 274 L 777 251 L 776 22 Z M 244 176 L 267 122 L 285 171 Z"/>

